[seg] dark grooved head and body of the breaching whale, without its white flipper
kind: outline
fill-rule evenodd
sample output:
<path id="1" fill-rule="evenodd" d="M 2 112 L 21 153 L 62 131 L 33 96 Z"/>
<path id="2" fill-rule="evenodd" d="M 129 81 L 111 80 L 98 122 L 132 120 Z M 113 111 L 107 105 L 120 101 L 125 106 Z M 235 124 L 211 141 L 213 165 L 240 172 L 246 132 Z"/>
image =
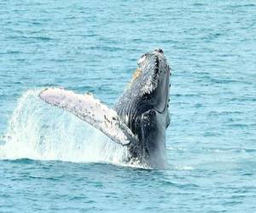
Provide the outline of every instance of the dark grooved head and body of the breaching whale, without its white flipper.
<path id="1" fill-rule="evenodd" d="M 119 118 L 138 138 L 137 144 L 129 146 L 131 160 L 151 167 L 166 163 L 170 73 L 162 49 L 143 55 L 134 79 L 114 105 Z"/>

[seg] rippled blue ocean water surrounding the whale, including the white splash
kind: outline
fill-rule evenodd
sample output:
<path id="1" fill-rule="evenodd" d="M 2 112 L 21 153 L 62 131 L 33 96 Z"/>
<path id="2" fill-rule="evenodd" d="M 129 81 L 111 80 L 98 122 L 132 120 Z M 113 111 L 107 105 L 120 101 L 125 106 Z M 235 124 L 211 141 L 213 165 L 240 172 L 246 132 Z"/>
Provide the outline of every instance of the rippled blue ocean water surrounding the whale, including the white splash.
<path id="1" fill-rule="evenodd" d="M 256 212 L 255 1 L 0 1 L 0 212 Z M 113 105 L 143 53 L 172 67 L 168 166 L 40 89 Z"/>

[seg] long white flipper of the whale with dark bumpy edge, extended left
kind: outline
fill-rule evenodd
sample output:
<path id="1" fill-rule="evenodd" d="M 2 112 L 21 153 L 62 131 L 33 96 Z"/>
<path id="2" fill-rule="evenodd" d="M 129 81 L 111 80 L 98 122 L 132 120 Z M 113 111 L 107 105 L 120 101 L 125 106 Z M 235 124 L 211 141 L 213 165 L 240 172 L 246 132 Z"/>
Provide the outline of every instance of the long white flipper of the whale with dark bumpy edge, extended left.
<path id="1" fill-rule="evenodd" d="M 72 112 L 121 145 L 129 145 L 137 141 L 137 137 L 132 134 L 118 114 L 90 94 L 75 94 L 65 89 L 52 88 L 44 89 L 39 97 L 53 106 Z"/>

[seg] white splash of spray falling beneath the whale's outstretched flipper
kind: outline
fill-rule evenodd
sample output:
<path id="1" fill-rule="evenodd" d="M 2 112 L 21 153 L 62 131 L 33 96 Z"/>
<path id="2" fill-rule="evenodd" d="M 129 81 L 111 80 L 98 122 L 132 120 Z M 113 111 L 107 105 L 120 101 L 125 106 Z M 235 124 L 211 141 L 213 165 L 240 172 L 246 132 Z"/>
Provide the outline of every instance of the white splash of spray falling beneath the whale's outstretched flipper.
<path id="1" fill-rule="evenodd" d="M 20 97 L 0 144 L 0 158 L 125 164 L 127 149 L 69 112 L 38 98 L 39 90 Z"/>

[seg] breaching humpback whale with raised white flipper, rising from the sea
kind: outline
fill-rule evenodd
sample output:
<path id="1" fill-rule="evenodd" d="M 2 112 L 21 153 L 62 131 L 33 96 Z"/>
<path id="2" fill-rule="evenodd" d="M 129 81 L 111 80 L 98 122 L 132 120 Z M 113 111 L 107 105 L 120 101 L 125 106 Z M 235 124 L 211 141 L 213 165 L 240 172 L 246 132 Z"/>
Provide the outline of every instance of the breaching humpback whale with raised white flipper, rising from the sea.
<path id="1" fill-rule="evenodd" d="M 155 49 L 137 60 L 137 70 L 113 108 L 90 93 L 75 94 L 48 88 L 39 97 L 101 130 L 128 149 L 127 161 L 149 167 L 166 164 L 166 128 L 169 118 L 171 69 L 162 49 Z"/>

